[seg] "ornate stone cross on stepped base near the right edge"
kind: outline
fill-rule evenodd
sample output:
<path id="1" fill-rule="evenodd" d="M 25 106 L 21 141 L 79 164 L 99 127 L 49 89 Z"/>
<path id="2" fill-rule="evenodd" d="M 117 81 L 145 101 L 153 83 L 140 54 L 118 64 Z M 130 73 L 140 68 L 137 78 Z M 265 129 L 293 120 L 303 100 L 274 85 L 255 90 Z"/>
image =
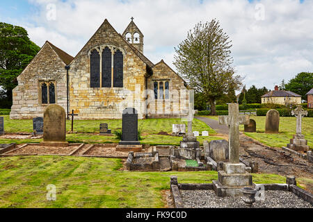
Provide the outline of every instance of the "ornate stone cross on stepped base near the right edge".
<path id="1" fill-rule="evenodd" d="M 291 110 L 291 114 L 297 118 L 296 135 L 290 139 L 290 144 L 287 144 L 287 147 L 294 151 L 308 151 L 309 146 L 307 146 L 307 140 L 305 139 L 305 136 L 301 134 L 302 118 L 307 115 L 307 111 L 303 110 L 302 105 L 298 105 L 295 110 Z"/>

